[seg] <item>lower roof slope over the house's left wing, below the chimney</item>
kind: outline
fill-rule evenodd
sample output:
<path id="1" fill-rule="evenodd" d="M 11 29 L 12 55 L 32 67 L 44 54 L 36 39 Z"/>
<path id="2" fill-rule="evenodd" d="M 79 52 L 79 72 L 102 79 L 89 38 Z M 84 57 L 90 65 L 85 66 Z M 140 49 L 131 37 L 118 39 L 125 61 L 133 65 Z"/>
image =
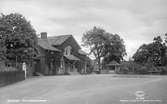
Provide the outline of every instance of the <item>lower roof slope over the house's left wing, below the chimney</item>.
<path id="1" fill-rule="evenodd" d="M 59 49 L 53 47 L 47 39 L 38 39 L 38 45 L 40 47 L 42 47 L 43 49 L 46 49 L 46 50 L 52 50 L 52 51 L 58 51 L 60 52 Z"/>

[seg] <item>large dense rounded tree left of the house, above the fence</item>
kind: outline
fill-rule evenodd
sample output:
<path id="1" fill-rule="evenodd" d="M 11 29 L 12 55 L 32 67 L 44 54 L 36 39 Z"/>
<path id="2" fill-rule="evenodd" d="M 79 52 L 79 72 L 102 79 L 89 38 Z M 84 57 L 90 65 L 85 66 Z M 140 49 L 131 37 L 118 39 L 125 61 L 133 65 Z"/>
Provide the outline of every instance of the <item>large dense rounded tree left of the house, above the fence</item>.
<path id="1" fill-rule="evenodd" d="M 30 22 L 21 14 L 11 13 L 1 14 L 0 24 L 0 42 L 6 49 L 5 57 L 15 62 L 31 61 L 37 54 L 37 36 Z"/>

